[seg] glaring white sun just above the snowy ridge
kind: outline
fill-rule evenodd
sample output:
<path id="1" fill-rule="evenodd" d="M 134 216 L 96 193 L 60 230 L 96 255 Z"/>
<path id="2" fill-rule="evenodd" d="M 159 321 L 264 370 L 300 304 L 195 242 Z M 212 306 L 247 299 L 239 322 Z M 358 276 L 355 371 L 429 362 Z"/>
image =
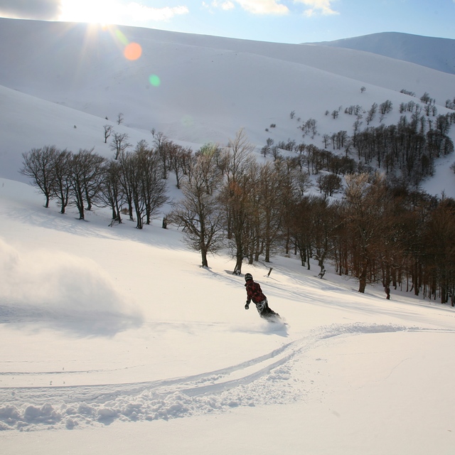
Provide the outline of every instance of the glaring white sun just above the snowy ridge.
<path id="1" fill-rule="evenodd" d="M 122 7 L 115 0 L 62 0 L 60 21 L 117 23 Z"/>

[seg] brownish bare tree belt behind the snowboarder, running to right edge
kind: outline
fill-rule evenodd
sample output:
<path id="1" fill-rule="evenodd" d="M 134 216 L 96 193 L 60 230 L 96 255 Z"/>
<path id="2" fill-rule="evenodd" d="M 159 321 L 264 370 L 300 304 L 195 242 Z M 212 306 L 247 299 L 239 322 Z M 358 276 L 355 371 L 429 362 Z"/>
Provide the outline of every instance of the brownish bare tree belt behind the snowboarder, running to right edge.
<path id="1" fill-rule="evenodd" d="M 269 262 L 280 251 L 308 268 L 316 259 L 320 277 L 331 262 L 338 274 L 358 279 L 360 292 L 379 282 L 454 304 L 454 200 L 378 172 L 348 173 L 343 198 L 309 196 L 296 161 L 257 164 L 251 150 L 240 132 L 226 149 L 198 152 L 170 214 L 188 244 L 203 251 L 204 265 L 227 241 L 235 274 L 245 260 Z"/>

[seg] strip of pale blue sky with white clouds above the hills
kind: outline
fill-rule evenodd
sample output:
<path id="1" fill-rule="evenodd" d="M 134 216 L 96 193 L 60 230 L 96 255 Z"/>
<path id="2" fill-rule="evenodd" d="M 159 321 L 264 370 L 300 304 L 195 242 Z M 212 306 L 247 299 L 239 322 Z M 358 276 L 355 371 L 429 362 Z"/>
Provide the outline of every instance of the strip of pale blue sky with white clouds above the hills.
<path id="1" fill-rule="evenodd" d="M 386 31 L 455 39 L 455 0 L 0 0 L 0 17 L 115 23 L 277 43 Z"/>

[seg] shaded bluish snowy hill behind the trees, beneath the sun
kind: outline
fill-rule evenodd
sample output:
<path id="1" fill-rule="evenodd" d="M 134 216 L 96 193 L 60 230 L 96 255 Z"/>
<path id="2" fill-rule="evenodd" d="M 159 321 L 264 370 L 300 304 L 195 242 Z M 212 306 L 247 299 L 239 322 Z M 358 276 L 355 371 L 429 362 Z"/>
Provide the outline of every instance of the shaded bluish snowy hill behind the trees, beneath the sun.
<path id="1" fill-rule="evenodd" d="M 124 58 L 127 42 L 141 45 L 139 60 Z M 323 133 L 350 134 L 354 121 L 346 114 L 334 120 L 326 111 L 391 100 L 387 124 L 397 122 L 398 105 L 411 99 L 403 88 L 417 97 L 428 92 L 444 113 L 455 87 L 455 75 L 326 45 L 14 19 L 0 19 L 0 60 L 0 176 L 14 179 L 21 178 L 21 154 L 33 147 L 95 147 L 109 156 L 104 124 L 128 132 L 132 144 L 153 141 L 155 129 L 195 147 L 225 144 L 244 127 L 260 147 L 268 137 L 299 143 L 298 120 L 314 118 L 314 143 L 322 146 Z M 161 83 L 151 84 L 151 75 Z"/>

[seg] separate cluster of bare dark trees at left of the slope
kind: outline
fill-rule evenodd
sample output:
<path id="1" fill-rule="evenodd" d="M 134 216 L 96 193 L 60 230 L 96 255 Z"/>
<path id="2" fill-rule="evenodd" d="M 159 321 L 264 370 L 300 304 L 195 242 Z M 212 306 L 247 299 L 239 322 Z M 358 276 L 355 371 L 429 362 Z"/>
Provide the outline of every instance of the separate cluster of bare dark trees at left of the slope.
<path id="1" fill-rule="evenodd" d="M 109 207 L 112 220 L 122 223 L 125 208 L 130 220 L 136 215 L 136 227 L 141 229 L 167 200 L 159 154 L 145 141 L 118 160 L 105 159 L 93 149 L 73 153 L 44 146 L 23 154 L 20 172 L 44 194 L 45 207 L 56 200 L 60 213 L 65 213 L 73 205 L 80 220 L 85 220 L 85 210 L 96 206 Z"/>

